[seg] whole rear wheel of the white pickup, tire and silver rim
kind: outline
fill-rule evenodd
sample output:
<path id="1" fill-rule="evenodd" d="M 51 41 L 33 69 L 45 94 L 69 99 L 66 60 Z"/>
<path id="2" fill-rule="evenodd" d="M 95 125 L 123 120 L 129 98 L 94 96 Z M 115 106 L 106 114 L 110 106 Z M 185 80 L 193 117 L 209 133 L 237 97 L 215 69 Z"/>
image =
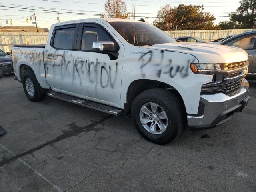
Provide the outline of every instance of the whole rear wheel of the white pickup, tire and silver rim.
<path id="1" fill-rule="evenodd" d="M 40 87 L 33 71 L 25 72 L 22 82 L 24 92 L 30 101 L 37 102 L 45 98 L 46 92 Z"/>

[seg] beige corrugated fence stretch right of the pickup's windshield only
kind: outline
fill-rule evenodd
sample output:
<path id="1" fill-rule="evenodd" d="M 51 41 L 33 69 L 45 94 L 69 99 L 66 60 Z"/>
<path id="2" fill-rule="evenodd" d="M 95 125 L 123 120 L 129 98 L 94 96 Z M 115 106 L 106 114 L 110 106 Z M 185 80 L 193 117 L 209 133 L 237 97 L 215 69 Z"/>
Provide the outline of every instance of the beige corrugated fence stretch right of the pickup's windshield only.
<path id="1" fill-rule="evenodd" d="M 194 36 L 205 41 L 212 41 L 218 38 L 225 38 L 232 34 L 239 34 L 252 29 L 229 29 L 229 30 L 184 30 L 184 31 L 165 31 L 173 38 L 182 36 Z"/>

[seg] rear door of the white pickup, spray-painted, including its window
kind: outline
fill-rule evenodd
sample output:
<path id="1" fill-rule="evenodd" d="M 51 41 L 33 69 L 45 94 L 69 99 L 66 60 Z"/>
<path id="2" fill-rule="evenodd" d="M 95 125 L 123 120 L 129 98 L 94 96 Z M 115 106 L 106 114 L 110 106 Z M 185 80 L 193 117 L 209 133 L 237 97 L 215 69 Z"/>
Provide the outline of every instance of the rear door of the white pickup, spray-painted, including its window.
<path id="1" fill-rule="evenodd" d="M 64 93 L 76 92 L 74 54 L 79 24 L 54 28 L 50 44 L 44 50 L 46 80 L 52 90 Z"/>

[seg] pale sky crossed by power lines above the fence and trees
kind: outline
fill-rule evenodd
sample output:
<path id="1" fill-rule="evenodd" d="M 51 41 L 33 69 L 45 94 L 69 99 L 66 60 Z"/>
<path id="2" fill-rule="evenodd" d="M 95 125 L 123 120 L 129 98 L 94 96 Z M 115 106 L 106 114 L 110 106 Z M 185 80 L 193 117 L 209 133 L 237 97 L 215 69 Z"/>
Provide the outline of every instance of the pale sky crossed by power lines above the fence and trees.
<path id="1" fill-rule="evenodd" d="M 74 12 L 85 13 L 85 15 L 75 14 L 60 14 L 61 21 L 82 19 L 82 18 L 98 18 L 100 14 L 104 12 L 104 3 L 106 0 L 8 0 L 0 4 L 0 26 L 4 26 L 5 20 L 12 19 L 13 25 L 33 26 L 32 21 L 26 23 L 26 16 L 30 16 L 36 13 L 38 18 L 38 26 L 42 28 L 50 28 L 51 24 L 56 23 L 56 12 Z M 135 4 L 135 15 L 142 18 L 156 17 L 157 11 L 165 4 L 171 6 L 178 6 L 180 3 L 201 5 L 205 7 L 205 11 L 210 12 L 216 18 L 215 23 L 218 24 L 220 20 L 229 20 L 229 13 L 235 12 L 236 8 L 240 5 L 239 0 L 125 0 L 127 4 L 128 12 L 132 12 L 132 4 Z M 8 6 L 9 8 L 2 7 Z M 23 11 L 17 10 L 14 7 L 22 7 Z M 28 8 L 38 9 L 29 10 Z M 47 10 L 48 13 L 43 13 Z M 139 18 L 137 17 L 136 20 Z M 152 23 L 155 18 L 148 18 L 148 22 Z M 10 22 L 9 24 L 10 25 Z"/>

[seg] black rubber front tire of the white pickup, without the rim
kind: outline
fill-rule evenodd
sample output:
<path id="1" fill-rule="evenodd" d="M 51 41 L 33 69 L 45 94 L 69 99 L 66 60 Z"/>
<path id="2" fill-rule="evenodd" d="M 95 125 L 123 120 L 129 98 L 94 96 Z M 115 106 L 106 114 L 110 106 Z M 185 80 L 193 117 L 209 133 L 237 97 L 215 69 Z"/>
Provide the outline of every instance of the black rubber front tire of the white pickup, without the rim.
<path id="1" fill-rule="evenodd" d="M 161 134 L 148 132 L 140 122 L 140 109 L 146 103 L 155 103 L 160 106 L 167 115 L 168 125 Z M 150 142 L 156 144 L 168 144 L 180 136 L 186 126 L 186 112 L 182 100 L 175 94 L 164 89 L 150 89 L 140 93 L 132 103 L 132 120 L 138 132 Z"/>

